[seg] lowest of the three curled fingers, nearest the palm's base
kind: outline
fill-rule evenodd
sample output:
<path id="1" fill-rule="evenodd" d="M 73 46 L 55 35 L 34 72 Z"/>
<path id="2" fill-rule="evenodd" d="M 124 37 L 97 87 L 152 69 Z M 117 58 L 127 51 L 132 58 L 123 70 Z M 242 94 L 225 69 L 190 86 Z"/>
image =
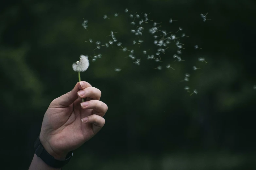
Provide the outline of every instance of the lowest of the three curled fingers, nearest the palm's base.
<path id="1" fill-rule="evenodd" d="M 82 119 L 84 123 L 93 123 L 94 135 L 104 126 L 105 119 L 99 115 L 91 115 Z"/>

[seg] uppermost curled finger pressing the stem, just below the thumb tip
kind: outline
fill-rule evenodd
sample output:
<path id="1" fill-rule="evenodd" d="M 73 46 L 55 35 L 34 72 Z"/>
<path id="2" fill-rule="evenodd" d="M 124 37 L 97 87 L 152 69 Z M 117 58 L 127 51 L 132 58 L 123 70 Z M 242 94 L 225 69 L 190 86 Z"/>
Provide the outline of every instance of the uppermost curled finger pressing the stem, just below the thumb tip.
<path id="1" fill-rule="evenodd" d="M 95 100 L 99 100 L 101 96 L 101 91 L 95 87 L 88 87 L 86 89 L 83 89 L 77 92 L 77 95 L 80 98 L 89 97 Z"/>

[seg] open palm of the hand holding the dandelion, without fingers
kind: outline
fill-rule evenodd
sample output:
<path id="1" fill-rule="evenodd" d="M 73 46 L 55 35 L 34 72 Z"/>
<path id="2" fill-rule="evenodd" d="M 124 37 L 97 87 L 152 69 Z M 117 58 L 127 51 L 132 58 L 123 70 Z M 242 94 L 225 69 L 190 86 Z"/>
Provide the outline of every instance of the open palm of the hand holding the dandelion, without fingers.
<path id="1" fill-rule="evenodd" d="M 93 109 L 82 109 L 81 99 L 78 98 L 70 106 L 51 107 L 49 106 L 43 121 L 43 127 L 51 138 L 49 142 L 53 150 L 71 151 L 80 147 L 85 141 L 95 135 L 95 124 L 85 124 L 82 118 L 93 114 Z"/>

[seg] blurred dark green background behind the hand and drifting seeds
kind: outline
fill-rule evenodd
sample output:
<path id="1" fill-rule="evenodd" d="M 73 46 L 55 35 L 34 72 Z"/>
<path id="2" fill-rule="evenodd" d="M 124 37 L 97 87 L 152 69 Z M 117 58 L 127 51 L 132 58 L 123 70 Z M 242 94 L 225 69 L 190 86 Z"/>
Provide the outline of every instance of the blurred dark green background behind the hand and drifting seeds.
<path id="1" fill-rule="evenodd" d="M 148 28 L 130 33 L 133 13 L 150 13 L 162 29 L 182 32 L 182 59 L 172 43 L 163 63 L 146 60 L 156 52 Z M 119 13 L 114 18 L 114 13 Z M 206 22 L 200 13 L 207 13 Z M 103 15 L 110 18 L 104 20 Z M 141 15 L 141 17 L 143 16 Z M 255 98 L 256 2 L 231 0 L 5 1 L 0 6 L 0 169 L 28 169 L 33 143 L 50 102 L 78 81 L 71 65 L 80 54 L 102 58 L 81 74 L 102 92 L 109 110 L 104 128 L 63 169 L 238 170 L 256 169 Z M 87 19 L 88 31 L 82 28 Z M 178 20 L 170 24 L 172 18 Z M 138 20 L 137 20 L 138 21 Z M 136 26 L 135 26 L 136 27 Z M 135 50 L 141 65 L 109 41 L 110 31 Z M 84 42 L 92 38 L 94 43 Z M 133 46 L 132 41 L 143 44 Z M 203 50 L 195 50 L 198 45 Z M 205 57 L 208 64 L 197 61 Z M 90 58 L 91 61 L 91 58 Z M 175 70 L 166 69 L 171 64 Z M 153 69 L 162 65 L 162 70 Z M 193 71 L 193 66 L 202 69 Z M 115 68 L 121 72 L 115 72 Z M 184 74 L 189 82 L 180 82 Z M 198 94 L 190 96 L 189 86 Z M 1 162 L 2 162 L 1 161 Z"/>

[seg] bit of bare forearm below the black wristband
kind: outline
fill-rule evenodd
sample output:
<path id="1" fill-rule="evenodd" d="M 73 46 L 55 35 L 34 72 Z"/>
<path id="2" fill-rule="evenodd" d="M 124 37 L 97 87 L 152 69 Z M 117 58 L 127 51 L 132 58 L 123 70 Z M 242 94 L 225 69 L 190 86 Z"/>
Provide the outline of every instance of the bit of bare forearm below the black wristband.
<path id="1" fill-rule="evenodd" d="M 36 154 L 34 154 L 33 160 L 28 170 L 61 170 L 61 168 L 53 168 L 47 165 L 41 158 L 38 158 Z"/>

